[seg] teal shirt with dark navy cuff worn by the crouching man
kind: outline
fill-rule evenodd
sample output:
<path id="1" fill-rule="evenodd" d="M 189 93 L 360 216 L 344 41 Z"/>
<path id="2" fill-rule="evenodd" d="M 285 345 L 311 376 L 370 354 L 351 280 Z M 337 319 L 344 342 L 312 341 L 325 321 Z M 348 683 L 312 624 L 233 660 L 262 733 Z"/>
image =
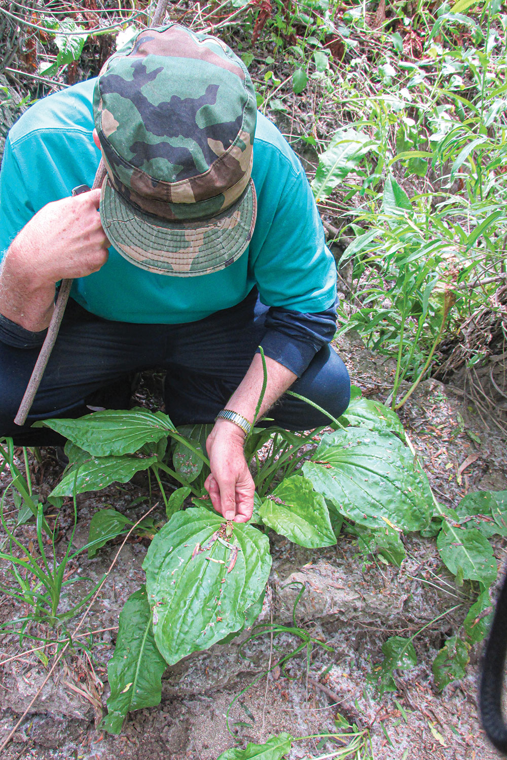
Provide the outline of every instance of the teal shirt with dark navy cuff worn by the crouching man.
<path id="1" fill-rule="evenodd" d="M 92 138 L 94 84 L 85 81 L 40 100 L 11 128 L 0 173 L 0 258 L 41 207 L 68 197 L 77 185 L 93 184 L 100 160 Z M 74 280 L 71 297 L 106 319 L 176 324 L 234 306 L 257 287 L 261 302 L 272 307 L 263 347 L 300 375 L 333 337 L 336 268 L 303 167 L 260 113 L 252 179 L 255 230 L 229 267 L 171 277 L 135 267 L 111 248 L 100 271 Z"/>

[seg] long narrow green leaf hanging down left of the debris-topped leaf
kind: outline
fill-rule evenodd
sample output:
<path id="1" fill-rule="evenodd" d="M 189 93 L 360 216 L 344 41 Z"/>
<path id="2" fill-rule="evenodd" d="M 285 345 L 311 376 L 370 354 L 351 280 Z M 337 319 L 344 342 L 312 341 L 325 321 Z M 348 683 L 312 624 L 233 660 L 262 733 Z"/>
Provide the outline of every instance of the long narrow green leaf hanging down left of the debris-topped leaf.
<path id="1" fill-rule="evenodd" d="M 166 662 L 155 644 L 151 610 L 142 586 L 125 602 L 119 616 L 116 648 L 107 665 L 111 696 L 100 728 L 119 733 L 129 710 L 158 705 Z"/>

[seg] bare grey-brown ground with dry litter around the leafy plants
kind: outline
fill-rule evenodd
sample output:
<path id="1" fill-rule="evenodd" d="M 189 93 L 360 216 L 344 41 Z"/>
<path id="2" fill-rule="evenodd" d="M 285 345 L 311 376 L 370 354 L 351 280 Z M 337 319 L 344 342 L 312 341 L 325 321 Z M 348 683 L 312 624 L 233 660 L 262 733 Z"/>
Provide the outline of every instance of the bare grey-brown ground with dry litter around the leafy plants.
<path id="1" fill-rule="evenodd" d="M 339 350 L 363 394 L 385 400 L 394 366 L 366 350 L 355 334 L 341 337 Z M 468 491 L 507 488 L 505 441 L 464 405 L 459 389 L 454 392 L 442 383 L 426 381 L 401 417 L 442 503 L 457 505 Z M 460 470 L 467 458 L 470 464 Z M 36 488 L 47 494 L 61 472 L 52 449 L 43 450 L 43 462 L 33 463 L 33 470 Z M 136 483 L 78 498 L 76 547 L 87 542 L 90 518 L 97 508 L 111 505 L 135 519 L 147 510 L 147 482 L 136 478 Z M 5 474 L 4 486 L 8 480 Z M 144 501 L 132 506 L 140 497 Z M 9 499 L 6 510 L 11 508 Z M 62 546 L 70 537 L 71 525 L 68 505 L 62 516 Z M 33 527 L 25 526 L 22 533 L 26 540 L 33 540 Z M 407 559 L 398 569 L 371 556 L 360 556 L 352 537 L 341 536 L 337 546 L 312 551 L 290 544 L 284 537 L 271 537 L 274 562 L 260 619 L 292 625 L 293 604 L 304 586 L 295 616 L 299 628 L 317 640 L 310 652 L 305 649 L 267 677 L 263 673 L 270 664 L 300 643 L 296 635 L 287 632 L 271 638 L 266 634 L 248 641 L 247 634 L 227 646 L 217 644 L 168 668 L 159 707 L 129 714 L 120 736 L 99 733 L 96 726 L 108 696 L 106 664 L 114 648 L 119 612 L 144 581 L 141 562 L 147 543 L 129 540 L 81 628 L 82 633 L 97 631 L 93 642 L 87 639 L 88 651 L 77 645 L 59 663 L 2 760 L 215 760 L 235 743 L 260 743 L 281 731 L 295 737 L 335 731 L 337 713 L 360 730 L 369 729 L 376 760 L 490 760 L 499 756 L 486 742 L 477 720 L 480 648 L 472 649 L 464 679 L 442 694 L 433 685 L 431 663 L 445 639 L 458 633 L 474 598 L 467 584 L 455 586 L 434 540 L 406 537 Z M 119 543 L 109 544 L 94 559 L 83 555 L 71 562 L 69 577 L 75 583 L 68 587 L 64 608 L 100 579 L 118 548 Z M 496 543 L 499 565 L 504 555 L 504 544 Z M 365 676 L 382 660 L 383 641 L 389 635 L 411 635 L 456 605 L 458 609 L 415 638 L 417 667 L 398 671 L 397 691 L 375 698 Z M 20 607 L 2 597 L 2 621 L 19 614 Z M 319 641 L 331 649 L 322 648 Z M 30 705 L 52 662 L 49 648 L 45 651 L 47 667 L 36 654 L 27 653 L 29 648 L 27 642 L 20 648 L 12 636 L 2 641 L 3 739 Z M 14 659 L 5 662 L 8 657 Z M 319 738 L 298 741 L 290 758 L 317 758 L 337 749 L 336 743 L 319 742 Z M 366 760 L 368 755 L 360 757 Z"/>

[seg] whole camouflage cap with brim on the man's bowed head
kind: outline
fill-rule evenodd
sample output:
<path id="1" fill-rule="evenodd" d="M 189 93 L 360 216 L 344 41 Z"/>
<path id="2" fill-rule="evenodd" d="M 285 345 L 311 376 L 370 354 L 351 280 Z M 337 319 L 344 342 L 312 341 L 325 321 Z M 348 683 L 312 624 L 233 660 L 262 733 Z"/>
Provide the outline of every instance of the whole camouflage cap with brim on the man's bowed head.
<path id="1" fill-rule="evenodd" d="M 143 30 L 106 61 L 93 113 L 107 169 L 100 217 L 119 253 L 176 277 L 233 264 L 255 225 L 257 116 L 233 51 L 178 24 Z"/>

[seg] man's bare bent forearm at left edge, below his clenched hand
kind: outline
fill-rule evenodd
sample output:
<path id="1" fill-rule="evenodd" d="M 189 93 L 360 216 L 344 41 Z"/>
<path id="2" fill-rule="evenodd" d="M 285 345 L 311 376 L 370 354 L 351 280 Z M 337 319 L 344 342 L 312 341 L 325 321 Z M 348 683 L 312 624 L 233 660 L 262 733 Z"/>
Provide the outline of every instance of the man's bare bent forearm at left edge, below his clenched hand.
<path id="1" fill-rule="evenodd" d="M 55 303 L 55 283 L 33 276 L 27 252 L 12 242 L 0 268 L 0 314 L 16 325 L 40 332 L 51 320 Z"/>

